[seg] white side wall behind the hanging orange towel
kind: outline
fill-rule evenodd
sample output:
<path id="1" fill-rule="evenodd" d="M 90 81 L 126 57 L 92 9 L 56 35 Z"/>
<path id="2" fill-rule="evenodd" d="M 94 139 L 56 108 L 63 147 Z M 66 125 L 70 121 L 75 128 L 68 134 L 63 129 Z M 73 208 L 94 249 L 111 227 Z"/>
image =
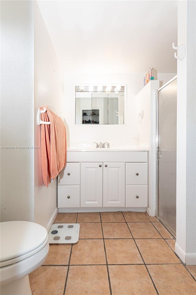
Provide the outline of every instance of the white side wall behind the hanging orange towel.
<path id="1" fill-rule="evenodd" d="M 63 78 L 55 49 L 43 21 L 37 2 L 34 2 L 34 77 L 35 77 L 35 146 L 40 146 L 41 125 L 37 125 L 37 109 L 47 105 L 63 117 Z M 50 227 L 57 213 L 57 179 L 48 188 L 43 184 L 41 151 L 35 150 L 35 209 L 34 221 Z"/>

